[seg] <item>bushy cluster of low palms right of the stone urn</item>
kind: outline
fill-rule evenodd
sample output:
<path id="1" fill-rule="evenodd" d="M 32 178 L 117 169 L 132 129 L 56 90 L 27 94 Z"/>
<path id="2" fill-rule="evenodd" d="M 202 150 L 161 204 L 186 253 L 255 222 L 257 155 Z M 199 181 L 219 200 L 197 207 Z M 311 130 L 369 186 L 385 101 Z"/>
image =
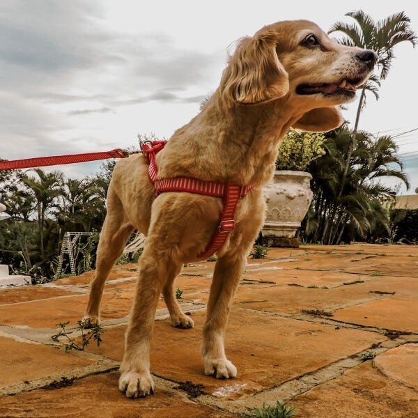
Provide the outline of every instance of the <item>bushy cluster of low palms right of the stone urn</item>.
<path id="1" fill-rule="evenodd" d="M 355 239 L 372 240 L 382 232 L 389 234 L 389 201 L 396 188 L 383 185 L 381 180 L 390 176 L 409 187 L 403 164 L 396 155 L 398 148 L 388 136 L 375 138 L 368 132 L 357 132 L 357 147 L 343 180 L 343 160 L 352 135 L 347 125 L 329 132 L 325 154 L 309 166 L 314 200 L 304 221 L 305 240 L 339 244 Z"/>

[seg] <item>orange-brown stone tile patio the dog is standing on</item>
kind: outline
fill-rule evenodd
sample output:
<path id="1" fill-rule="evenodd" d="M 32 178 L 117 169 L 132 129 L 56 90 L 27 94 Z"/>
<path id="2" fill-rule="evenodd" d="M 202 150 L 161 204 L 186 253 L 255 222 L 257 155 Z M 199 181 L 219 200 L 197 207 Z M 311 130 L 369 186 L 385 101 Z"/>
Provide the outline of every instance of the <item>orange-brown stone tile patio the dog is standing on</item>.
<path id="1" fill-rule="evenodd" d="M 297 418 L 418 417 L 418 247 L 304 246 L 249 259 L 226 335 L 234 380 L 205 376 L 200 359 L 213 267 L 186 266 L 176 282 L 194 329 L 171 327 L 160 301 L 156 393 L 137 400 L 117 388 L 137 265 L 112 271 L 103 342 L 84 352 L 66 354 L 51 336 L 82 317 L 93 272 L 0 290 L 0 417 L 241 417 L 277 400 Z"/>

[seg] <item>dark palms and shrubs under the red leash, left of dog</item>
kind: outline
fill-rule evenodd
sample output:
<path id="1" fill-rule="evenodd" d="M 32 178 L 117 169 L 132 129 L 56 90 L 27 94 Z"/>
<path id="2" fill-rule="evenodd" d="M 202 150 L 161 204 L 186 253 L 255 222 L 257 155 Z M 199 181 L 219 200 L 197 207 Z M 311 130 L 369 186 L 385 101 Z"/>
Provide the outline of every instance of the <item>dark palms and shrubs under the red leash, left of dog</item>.
<path id="1" fill-rule="evenodd" d="M 0 222 L 0 263 L 15 272 L 52 279 L 67 231 L 100 231 L 113 161 L 95 176 L 65 178 L 61 171 L 0 171 L 0 201 L 10 219 Z M 79 242 L 77 270 L 94 265 L 97 238 Z"/>

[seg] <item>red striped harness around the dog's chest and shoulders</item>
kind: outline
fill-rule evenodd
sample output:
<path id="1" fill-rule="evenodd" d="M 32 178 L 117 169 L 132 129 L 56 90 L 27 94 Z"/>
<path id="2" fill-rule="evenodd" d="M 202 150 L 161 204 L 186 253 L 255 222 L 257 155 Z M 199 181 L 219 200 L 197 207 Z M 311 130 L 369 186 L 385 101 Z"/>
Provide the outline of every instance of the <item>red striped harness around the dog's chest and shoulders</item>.
<path id="1" fill-rule="evenodd" d="M 253 186 L 239 186 L 233 183 L 217 183 L 215 181 L 203 181 L 197 178 L 187 177 L 157 178 L 158 169 L 155 163 L 155 155 L 166 144 L 167 141 L 150 141 L 141 146 L 144 155 L 146 155 L 150 162 L 148 177 L 155 187 L 155 194 L 157 196 L 163 192 L 187 192 L 222 197 L 224 209 L 219 220 L 219 226 L 212 235 L 208 247 L 198 256 L 199 258 L 208 258 L 224 245 L 226 238 L 229 237 L 229 233 L 234 230 L 235 221 L 233 217 L 238 199 L 245 197 Z"/>

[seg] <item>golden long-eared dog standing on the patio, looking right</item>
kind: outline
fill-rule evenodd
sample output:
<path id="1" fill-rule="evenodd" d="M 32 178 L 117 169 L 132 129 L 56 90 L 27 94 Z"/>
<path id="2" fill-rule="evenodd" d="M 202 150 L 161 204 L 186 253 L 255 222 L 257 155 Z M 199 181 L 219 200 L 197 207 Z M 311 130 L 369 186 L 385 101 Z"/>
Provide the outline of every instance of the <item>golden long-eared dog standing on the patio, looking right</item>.
<path id="1" fill-rule="evenodd" d="M 201 350 L 206 375 L 235 378 L 224 350 L 226 323 L 253 242 L 263 226 L 262 187 L 272 178 L 279 141 L 293 127 L 326 132 L 343 122 L 339 105 L 371 74 L 376 54 L 341 45 L 306 20 L 264 26 L 240 40 L 219 88 L 157 154 L 159 178 L 198 178 L 252 185 L 235 211 L 235 229 L 217 251 Z M 84 320 L 100 322 L 104 282 L 134 229 L 147 236 L 125 338 L 119 389 L 152 394 L 150 339 L 160 294 L 171 324 L 191 328 L 173 295 L 184 263 L 199 260 L 219 225 L 222 199 L 187 192 L 155 196 L 148 160 L 132 155 L 116 167 Z"/>

